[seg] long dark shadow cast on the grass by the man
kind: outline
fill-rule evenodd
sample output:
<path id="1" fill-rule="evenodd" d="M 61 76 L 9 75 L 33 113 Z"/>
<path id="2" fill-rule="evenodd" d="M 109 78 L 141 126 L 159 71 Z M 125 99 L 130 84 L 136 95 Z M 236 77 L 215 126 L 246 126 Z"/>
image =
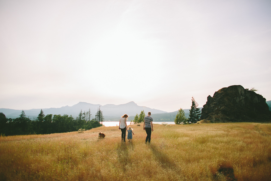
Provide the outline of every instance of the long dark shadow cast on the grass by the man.
<path id="1" fill-rule="evenodd" d="M 155 159 L 161 164 L 163 168 L 176 169 L 176 164 L 167 156 L 165 152 L 160 151 L 160 149 L 153 144 L 150 144 L 148 146 L 151 148 Z"/>

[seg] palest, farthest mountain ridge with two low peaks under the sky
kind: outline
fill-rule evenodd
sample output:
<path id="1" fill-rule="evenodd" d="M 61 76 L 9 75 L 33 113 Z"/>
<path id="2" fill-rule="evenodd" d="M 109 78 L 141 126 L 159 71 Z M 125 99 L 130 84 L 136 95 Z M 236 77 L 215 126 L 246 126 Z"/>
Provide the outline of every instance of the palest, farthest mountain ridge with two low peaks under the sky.
<path id="1" fill-rule="evenodd" d="M 128 116 L 135 116 L 136 114 L 139 114 L 142 110 L 145 111 L 147 114 L 148 112 L 151 112 L 151 114 L 157 114 L 157 113 L 167 113 L 166 111 L 157 110 L 157 109 L 151 109 L 146 106 L 138 106 L 135 102 L 129 102 L 126 104 L 120 104 L 120 105 L 114 105 L 114 104 L 106 104 L 104 106 L 100 104 L 91 104 L 86 102 L 79 102 L 78 104 L 75 104 L 73 106 L 63 106 L 60 108 L 42 108 L 42 111 L 45 115 L 52 114 L 52 115 L 72 115 L 72 116 L 78 116 L 80 111 L 91 111 L 92 115 L 95 115 L 97 113 L 98 109 L 101 109 L 103 112 L 103 116 L 123 116 L 124 114 L 127 114 Z M 31 110 L 24 110 L 25 114 L 29 118 L 37 117 L 40 113 L 41 109 L 31 109 Z M 1 108 L 0 112 L 4 113 L 7 118 L 17 118 L 19 117 L 22 110 L 13 110 L 13 109 L 5 109 Z"/>

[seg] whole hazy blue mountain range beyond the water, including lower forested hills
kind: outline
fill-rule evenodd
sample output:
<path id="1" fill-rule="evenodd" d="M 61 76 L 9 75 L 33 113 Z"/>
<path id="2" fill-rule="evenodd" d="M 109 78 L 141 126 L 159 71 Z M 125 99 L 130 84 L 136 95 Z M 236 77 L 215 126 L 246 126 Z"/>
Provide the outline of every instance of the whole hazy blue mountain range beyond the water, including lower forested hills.
<path id="1" fill-rule="evenodd" d="M 266 101 L 267 105 L 269 106 L 269 110 L 271 111 L 271 100 Z M 104 121 L 118 121 L 120 119 L 120 116 L 127 114 L 129 116 L 128 121 L 131 121 L 134 119 L 134 116 L 136 114 L 140 114 L 142 110 L 144 110 L 145 114 L 148 114 L 148 112 L 151 112 L 151 116 L 154 119 L 154 122 L 172 122 L 174 121 L 176 114 L 178 111 L 174 111 L 171 113 L 168 113 L 166 111 L 157 110 L 157 109 L 151 109 L 146 106 L 138 106 L 135 102 L 129 102 L 126 104 L 120 104 L 120 105 L 114 105 L 114 104 L 106 104 L 104 106 L 100 104 L 91 104 L 91 103 L 85 103 L 85 102 L 79 102 L 78 104 L 75 104 L 73 106 L 63 106 L 60 108 L 44 108 L 42 109 L 44 114 L 60 114 L 60 115 L 72 115 L 72 116 L 78 116 L 80 111 L 89 111 L 91 110 L 91 114 L 95 116 L 95 113 L 97 113 L 99 107 L 101 108 L 101 111 L 103 112 L 103 116 L 105 118 Z M 201 109 L 202 107 L 200 107 Z M 30 119 L 33 117 L 37 117 L 40 113 L 41 109 L 31 109 L 31 110 L 24 110 L 27 117 Z M 4 113 L 7 118 L 17 118 L 21 114 L 22 110 L 13 110 L 13 109 L 0 109 L 0 113 Z M 185 109 L 185 116 L 186 118 L 189 118 L 189 109 Z"/>

